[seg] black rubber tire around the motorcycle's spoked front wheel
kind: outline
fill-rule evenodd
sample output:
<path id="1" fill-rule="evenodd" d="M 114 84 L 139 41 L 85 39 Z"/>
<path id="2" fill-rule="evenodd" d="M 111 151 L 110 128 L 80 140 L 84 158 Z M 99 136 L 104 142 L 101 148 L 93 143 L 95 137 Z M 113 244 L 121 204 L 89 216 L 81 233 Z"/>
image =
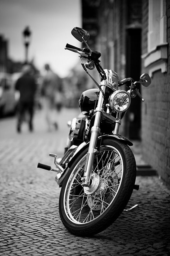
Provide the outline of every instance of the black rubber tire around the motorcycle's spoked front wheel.
<path id="1" fill-rule="evenodd" d="M 129 146 L 127 146 L 126 144 L 120 141 L 113 142 L 109 139 L 105 139 L 104 140 L 105 145 L 107 145 L 107 141 L 110 144 L 114 144 L 114 146 L 116 145 L 118 150 L 122 151 L 122 154 L 124 154 L 125 156 L 124 161 L 126 162 L 124 182 L 121 183 L 121 187 L 118 191 L 118 194 L 115 200 L 112 202 L 112 205 L 109 207 L 110 209 L 106 210 L 106 212 L 101 215 L 102 217 L 99 217 L 98 220 L 95 220 L 93 224 L 83 225 L 83 228 L 82 228 L 82 225 L 77 225 L 77 226 L 75 224 L 70 225 L 70 223 L 68 223 L 69 221 L 66 219 L 67 217 L 64 216 L 65 214 L 63 214 L 64 209 L 61 206 L 62 197 L 63 197 L 62 190 L 64 190 L 63 186 L 65 186 L 65 184 L 63 184 L 61 188 L 60 199 L 59 199 L 60 217 L 64 226 L 69 230 L 69 232 L 71 232 L 76 236 L 82 236 L 82 237 L 92 236 L 97 233 L 100 233 L 101 231 L 106 229 L 108 226 L 110 226 L 122 213 L 123 209 L 128 203 L 131 197 L 131 194 L 133 192 L 133 187 L 136 179 L 136 163 L 135 163 L 135 158 L 132 150 L 129 148 Z M 82 154 L 83 153 L 80 154 L 80 157 Z M 75 163 L 76 162 L 77 160 L 75 161 Z M 70 174 L 71 174 L 71 168 L 70 168 L 70 173 L 68 173 L 65 179 L 68 179 Z"/>

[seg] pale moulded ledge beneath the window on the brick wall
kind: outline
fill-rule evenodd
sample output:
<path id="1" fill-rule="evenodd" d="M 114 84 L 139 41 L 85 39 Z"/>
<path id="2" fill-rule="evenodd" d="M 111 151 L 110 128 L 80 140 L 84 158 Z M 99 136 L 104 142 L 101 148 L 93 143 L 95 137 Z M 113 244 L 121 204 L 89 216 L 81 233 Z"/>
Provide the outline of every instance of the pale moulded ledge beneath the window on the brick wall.
<path id="1" fill-rule="evenodd" d="M 142 55 L 144 67 L 148 69 L 152 77 L 153 72 L 161 69 L 161 72 L 167 72 L 167 43 L 158 45 L 153 51 Z"/>

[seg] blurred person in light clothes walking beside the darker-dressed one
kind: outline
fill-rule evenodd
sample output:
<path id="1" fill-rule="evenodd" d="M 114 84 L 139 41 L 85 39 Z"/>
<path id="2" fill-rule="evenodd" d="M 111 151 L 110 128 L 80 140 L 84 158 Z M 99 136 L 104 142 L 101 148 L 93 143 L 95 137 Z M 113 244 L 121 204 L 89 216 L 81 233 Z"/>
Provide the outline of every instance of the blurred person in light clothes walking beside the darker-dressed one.
<path id="1" fill-rule="evenodd" d="M 48 130 L 58 129 L 57 111 L 60 111 L 61 103 L 61 79 L 55 74 L 49 64 L 45 64 L 45 75 L 42 80 L 41 95 L 43 96 L 43 107 L 48 124 Z"/>

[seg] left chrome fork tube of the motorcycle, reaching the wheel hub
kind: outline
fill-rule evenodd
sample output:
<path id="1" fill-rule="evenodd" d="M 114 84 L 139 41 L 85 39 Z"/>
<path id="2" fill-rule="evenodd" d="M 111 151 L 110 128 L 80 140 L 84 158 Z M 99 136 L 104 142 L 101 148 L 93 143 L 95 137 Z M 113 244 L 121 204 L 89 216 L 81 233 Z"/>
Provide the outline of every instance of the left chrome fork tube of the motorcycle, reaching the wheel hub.
<path id="1" fill-rule="evenodd" d="M 101 82 L 101 89 L 105 93 L 106 91 L 106 81 L 103 80 Z M 89 187 L 90 186 L 90 179 L 91 179 L 91 172 L 92 172 L 92 166 L 94 161 L 94 152 L 97 145 L 97 139 L 100 133 L 100 120 L 101 120 L 101 114 L 102 114 L 102 107 L 103 107 L 103 95 L 100 91 L 99 94 L 99 100 L 97 104 L 97 108 L 95 109 L 95 119 L 94 119 L 94 126 L 91 128 L 91 138 L 89 143 L 89 150 L 86 156 L 86 165 L 84 168 L 84 176 L 81 178 L 82 180 L 82 186 L 83 187 Z"/>

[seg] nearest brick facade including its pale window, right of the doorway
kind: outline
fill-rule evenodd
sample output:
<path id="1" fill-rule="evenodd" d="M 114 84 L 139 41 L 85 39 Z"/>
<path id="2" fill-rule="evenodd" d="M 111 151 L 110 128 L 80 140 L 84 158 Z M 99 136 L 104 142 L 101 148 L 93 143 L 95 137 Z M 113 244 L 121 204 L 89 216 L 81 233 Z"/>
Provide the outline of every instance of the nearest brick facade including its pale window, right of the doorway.
<path id="1" fill-rule="evenodd" d="M 152 84 L 142 88 L 143 157 L 170 188 L 170 1 L 143 0 L 142 72 Z"/>

